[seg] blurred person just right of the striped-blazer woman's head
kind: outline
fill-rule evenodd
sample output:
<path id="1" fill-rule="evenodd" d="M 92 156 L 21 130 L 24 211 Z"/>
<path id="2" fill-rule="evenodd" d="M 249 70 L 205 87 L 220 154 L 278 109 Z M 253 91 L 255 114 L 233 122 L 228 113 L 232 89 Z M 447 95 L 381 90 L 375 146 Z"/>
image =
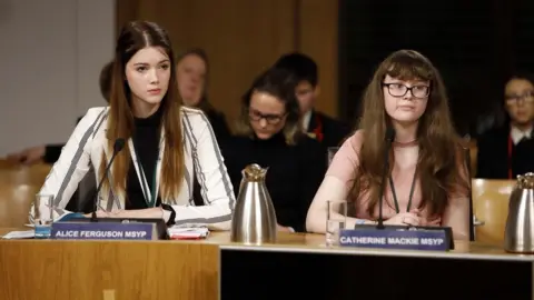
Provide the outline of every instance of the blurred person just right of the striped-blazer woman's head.
<path id="1" fill-rule="evenodd" d="M 228 138 L 230 130 L 225 114 L 208 101 L 209 60 L 206 51 L 194 48 L 181 53 L 177 59 L 177 78 L 184 104 L 206 113 L 217 139 Z"/>

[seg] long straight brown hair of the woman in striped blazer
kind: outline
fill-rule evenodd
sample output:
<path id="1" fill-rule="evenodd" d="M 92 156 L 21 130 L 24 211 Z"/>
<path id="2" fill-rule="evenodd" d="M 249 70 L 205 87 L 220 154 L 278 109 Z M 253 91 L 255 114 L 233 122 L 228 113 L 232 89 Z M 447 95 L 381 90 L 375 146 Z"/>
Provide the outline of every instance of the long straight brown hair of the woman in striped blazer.
<path id="1" fill-rule="evenodd" d="M 167 32 L 158 24 L 146 21 L 129 22 L 122 28 L 115 51 L 110 109 L 108 116 L 107 147 L 113 149 L 118 138 L 129 139 L 135 130 L 131 110 L 131 90 L 126 78 L 126 64 L 137 51 L 147 47 L 159 47 L 170 60 L 170 79 L 167 93 L 161 100 L 162 120 L 165 129 L 165 154 L 161 167 L 159 194 L 161 200 L 176 199 L 184 178 L 184 147 L 180 120 L 181 99 L 176 82 L 175 54 Z M 105 156 L 102 154 L 102 158 Z M 113 191 L 126 191 L 126 178 L 130 166 L 128 143 L 117 156 L 111 168 L 112 182 L 105 182 L 103 188 Z M 100 178 L 103 177 L 107 160 L 102 159 L 99 168 Z"/>

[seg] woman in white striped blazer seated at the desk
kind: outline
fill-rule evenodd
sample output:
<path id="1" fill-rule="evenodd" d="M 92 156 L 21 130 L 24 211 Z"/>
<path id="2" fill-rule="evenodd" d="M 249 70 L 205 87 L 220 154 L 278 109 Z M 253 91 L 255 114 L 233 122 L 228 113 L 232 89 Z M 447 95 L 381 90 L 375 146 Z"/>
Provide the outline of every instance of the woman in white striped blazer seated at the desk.
<path id="1" fill-rule="evenodd" d="M 53 219 L 70 213 L 65 207 L 92 166 L 96 181 L 103 179 L 98 217 L 161 218 L 168 226 L 229 229 L 233 187 L 209 121 L 200 110 L 181 106 L 174 59 L 168 34 L 158 24 L 125 26 L 116 47 L 109 107 L 88 110 L 40 191 L 55 197 L 59 216 Z M 105 174 L 120 141 L 126 141 L 123 149 Z M 191 200 L 192 166 L 202 187 L 202 207 Z M 39 210 L 49 213 L 44 207 Z"/>

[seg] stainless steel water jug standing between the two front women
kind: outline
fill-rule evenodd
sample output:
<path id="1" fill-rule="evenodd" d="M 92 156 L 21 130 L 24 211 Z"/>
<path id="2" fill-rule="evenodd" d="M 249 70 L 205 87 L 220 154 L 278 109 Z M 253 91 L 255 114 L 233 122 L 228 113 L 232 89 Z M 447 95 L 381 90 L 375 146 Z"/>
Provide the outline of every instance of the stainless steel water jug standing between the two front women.
<path id="1" fill-rule="evenodd" d="M 231 241 L 261 244 L 276 241 L 276 213 L 265 186 L 267 169 L 249 164 L 243 180 L 231 221 Z"/>

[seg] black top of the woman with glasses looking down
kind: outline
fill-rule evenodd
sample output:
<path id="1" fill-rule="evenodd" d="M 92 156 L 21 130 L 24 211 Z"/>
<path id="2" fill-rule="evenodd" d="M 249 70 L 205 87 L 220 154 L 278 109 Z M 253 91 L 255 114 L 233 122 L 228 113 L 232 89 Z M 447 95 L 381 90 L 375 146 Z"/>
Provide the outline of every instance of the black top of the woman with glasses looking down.
<path id="1" fill-rule="evenodd" d="M 306 230 L 309 204 L 326 172 L 326 150 L 319 142 L 303 136 L 296 146 L 288 146 L 278 133 L 269 140 L 233 137 L 221 142 L 220 148 L 236 197 L 246 166 L 269 167 L 265 184 L 278 224 L 299 232 Z"/>

